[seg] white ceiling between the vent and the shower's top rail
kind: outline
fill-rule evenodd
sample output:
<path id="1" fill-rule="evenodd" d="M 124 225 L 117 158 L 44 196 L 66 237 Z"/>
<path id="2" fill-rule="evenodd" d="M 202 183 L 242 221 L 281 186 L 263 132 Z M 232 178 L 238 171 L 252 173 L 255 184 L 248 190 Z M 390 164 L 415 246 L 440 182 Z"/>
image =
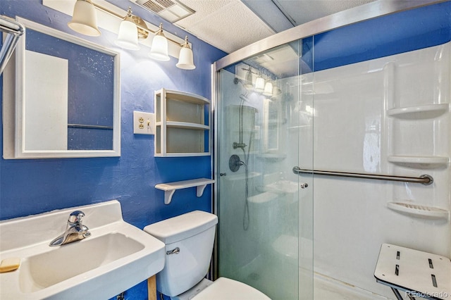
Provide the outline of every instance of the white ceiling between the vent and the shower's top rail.
<path id="1" fill-rule="evenodd" d="M 227 53 L 375 0 L 178 0 L 196 13 L 175 25 Z"/>

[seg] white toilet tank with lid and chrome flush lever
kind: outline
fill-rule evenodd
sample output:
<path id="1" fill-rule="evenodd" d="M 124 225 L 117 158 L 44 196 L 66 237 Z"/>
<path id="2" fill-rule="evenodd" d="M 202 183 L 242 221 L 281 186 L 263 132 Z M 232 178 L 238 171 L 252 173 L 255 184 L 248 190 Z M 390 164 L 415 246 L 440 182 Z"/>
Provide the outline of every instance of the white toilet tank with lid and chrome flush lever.
<path id="1" fill-rule="evenodd" d="M 209 270 L 218 217 L 192 211 L 144 227 L 144 231 L 166 244 L 163 270 L 156 274 L 156 289 L 176 296 L 194 287 Z M 175 249 L 178 254 L 169 254 Z"/>

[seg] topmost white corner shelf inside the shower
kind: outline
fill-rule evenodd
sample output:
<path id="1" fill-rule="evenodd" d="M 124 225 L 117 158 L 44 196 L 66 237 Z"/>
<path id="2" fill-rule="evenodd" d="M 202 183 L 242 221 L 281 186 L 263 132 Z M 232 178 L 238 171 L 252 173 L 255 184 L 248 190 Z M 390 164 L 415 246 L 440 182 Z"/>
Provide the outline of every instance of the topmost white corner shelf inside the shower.
<path id="1" fill-rule="evenodd" d="M 409 106 L 402 108 L 392 108 L 387 111 L 391 117 L 407 119 L 407 120 L 421 120 L 437 118 L 450 109 L 450 104 L 427 104 L 419 106 Z"/>

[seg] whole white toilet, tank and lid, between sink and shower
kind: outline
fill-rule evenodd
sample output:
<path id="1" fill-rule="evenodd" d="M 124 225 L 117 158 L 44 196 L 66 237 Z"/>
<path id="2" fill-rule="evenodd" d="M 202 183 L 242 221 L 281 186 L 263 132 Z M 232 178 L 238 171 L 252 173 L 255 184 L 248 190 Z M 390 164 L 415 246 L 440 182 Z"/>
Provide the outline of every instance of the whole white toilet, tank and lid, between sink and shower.
<path id="1" fill-rule="evenodd" d="M 242 282 L 204 277 L 209 270 L 218 217 L 192 211 L 144 227 L 144 231 L 166 244 L 163 270 L 156 274 L 156 289 L 171 299 L 271 300 Z"/>

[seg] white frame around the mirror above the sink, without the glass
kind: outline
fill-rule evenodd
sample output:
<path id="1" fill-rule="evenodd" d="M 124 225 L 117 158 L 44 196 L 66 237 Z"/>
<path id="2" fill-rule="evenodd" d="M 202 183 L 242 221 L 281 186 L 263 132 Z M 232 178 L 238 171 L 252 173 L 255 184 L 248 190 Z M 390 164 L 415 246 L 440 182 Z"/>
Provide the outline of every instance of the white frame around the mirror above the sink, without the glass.
<path id="1" fill-rule="evenodd" d="M 121 84 L 120 54 L 99 44 L 69 35 L 39 23 L 17 17 L 26 28 L 78 44 L 113 57 L 113 149 L 111 150 L 25 150 L 25 35 L 20 37 L 15 59 L 11 59 L 4 70 L 3 130 L 5 159 L 16 158 L 85 158 L 121 156 Z M 15 63 L 13 63 L 15 62 Z"/>

